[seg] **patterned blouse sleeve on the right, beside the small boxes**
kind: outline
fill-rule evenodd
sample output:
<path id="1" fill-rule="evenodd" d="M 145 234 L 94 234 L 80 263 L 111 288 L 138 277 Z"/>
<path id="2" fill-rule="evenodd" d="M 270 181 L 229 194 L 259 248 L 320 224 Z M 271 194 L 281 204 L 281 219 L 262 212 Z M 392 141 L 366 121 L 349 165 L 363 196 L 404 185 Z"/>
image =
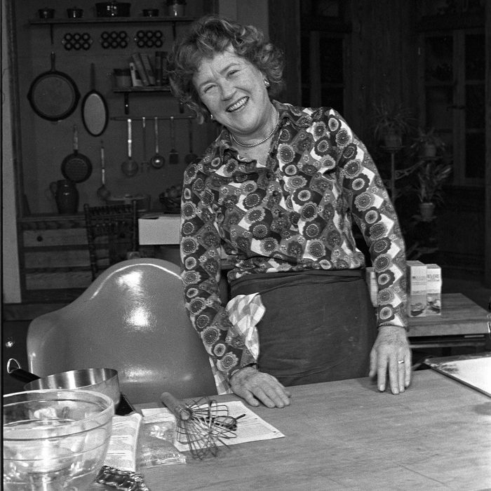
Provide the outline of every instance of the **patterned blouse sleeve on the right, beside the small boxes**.
<path id="1" fill-rule="evenodd" d="M 396 210 L 363 142 L 336 112 L 339 179 L 377 276 L 377 325 L 408 328 L 405 243 Z M 331 127 L 335 126 L 330 124 Z"/>

